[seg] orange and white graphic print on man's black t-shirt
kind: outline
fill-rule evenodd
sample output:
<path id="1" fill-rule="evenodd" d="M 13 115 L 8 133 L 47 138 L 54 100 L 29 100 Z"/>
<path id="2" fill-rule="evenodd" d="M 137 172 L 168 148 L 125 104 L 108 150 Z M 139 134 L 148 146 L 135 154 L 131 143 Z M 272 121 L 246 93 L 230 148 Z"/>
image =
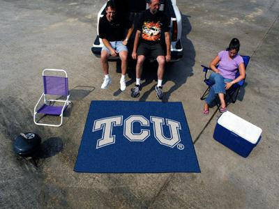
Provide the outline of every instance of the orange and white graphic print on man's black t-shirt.
<path id="1" fill-rule="evenodd" d="M 161 36 L 162 23 L 144 22 L 142 25 L 142 39 L 149 41 L 158 41 Z"/>

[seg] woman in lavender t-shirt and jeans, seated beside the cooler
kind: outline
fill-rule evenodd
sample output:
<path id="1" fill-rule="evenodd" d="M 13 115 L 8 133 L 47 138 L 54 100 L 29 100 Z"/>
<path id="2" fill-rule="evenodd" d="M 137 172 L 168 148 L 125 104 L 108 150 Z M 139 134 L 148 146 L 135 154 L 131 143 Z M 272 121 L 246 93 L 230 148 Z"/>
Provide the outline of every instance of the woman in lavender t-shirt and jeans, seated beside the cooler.
<path id="1" fill-rule="evenodd" d="M 233 84 L 240 82 L 245 78 L 245 67 L 243 58 L 238 54 L 240 43 L 237 38 L 233 38 L 229 43 L 227 51 L 218 53 L 209 67 L 213 72 L 209 77 L 209 81 L 213 86 L 209 90 L 209 95 L 205 99 L 204 114 L 209 114 L 209 104 L 213 102 L 218 94 L 220 99 L 220 111 L 227 111 L 225 103 L 225 93 Z M 219 65 L 218 65 L 219 64 Z M 218 68 L 216 68 L 218 65 Z M 236 77 L 236 72 L 239 69 L 239 77 Z"/>

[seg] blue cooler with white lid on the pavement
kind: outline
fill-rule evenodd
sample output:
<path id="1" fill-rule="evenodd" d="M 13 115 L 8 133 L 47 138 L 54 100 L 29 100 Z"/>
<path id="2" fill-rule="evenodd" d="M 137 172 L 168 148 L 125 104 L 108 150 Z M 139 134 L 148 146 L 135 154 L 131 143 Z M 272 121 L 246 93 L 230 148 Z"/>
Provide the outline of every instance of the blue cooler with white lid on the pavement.
<path id="1" fill-rule="evenodd" d="M 226 111 L 218 118 L 213 138 L 242 157 L 248 157 L 261 134 L 261 128 Z"/>

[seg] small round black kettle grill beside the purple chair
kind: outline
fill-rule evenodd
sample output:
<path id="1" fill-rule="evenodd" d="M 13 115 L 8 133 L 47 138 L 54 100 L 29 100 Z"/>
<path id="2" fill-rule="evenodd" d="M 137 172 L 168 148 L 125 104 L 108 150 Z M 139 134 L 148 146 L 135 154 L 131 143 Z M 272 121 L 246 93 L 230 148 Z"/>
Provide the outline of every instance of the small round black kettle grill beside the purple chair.
<path id="1" fill-rule="evenodd" d="M 38 134 L 28 132 L 20 134 L 15 139 L 13 150 L 17 155 L 30 156 L 40 147 L 40 136 Z"/>

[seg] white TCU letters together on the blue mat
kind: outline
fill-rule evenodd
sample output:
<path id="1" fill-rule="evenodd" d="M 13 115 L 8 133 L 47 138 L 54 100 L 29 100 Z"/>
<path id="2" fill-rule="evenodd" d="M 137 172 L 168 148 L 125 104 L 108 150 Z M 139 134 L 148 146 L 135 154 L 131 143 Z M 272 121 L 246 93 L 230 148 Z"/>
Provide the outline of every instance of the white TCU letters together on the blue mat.
<path id="1" fill-rule="evenodd" d="M 177 121 L 170 119 L 160 118 L 156 116 L 150 116 L 150 121 L 153 123 L 153 134 L 157 141 L 164 145 L 173 148 L 176 144 L 181 141 L 179 130 L 181 130 L 181 125 Z M 163 133 L 163 125 L 169 126 L 170 137 L 167 138 Z M 101 148 L 115 143 L 115 135 L 112 135 L 112 128 L 114 126 L 120 126 L 123 123 L 123 116 L 113 116 L 109 118 L 100 118 L 94 121 L 93 132 L 98 130 L 103 130 L 103 135 L 101 139 L 98 139 L 96 148 Z M 140 133 L 133 132 L 133 123 L 140 123 L 142 126 Z M 129 141 L 145 141 L 150 136 L 150 130 L 144 129 L 144 127 L 149 127 L 149 120 L 141 115 L 129 116 L 124 121 L 123 135 Z"/>

